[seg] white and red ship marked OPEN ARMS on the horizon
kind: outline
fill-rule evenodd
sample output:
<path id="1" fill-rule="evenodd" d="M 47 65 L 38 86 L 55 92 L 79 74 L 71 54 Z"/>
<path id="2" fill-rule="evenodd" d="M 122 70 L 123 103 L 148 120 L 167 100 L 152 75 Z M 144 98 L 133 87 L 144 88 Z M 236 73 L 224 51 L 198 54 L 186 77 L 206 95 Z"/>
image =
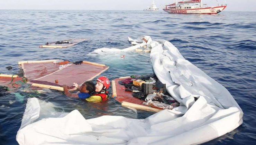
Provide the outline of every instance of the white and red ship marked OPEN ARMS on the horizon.
<path id="1" fill-rule="evenodd" d="M 226 2 L 226 0 L 225 0 Z M 217 0 L 218 3 L 218 0 Z M 202 14 L 217 14 L 221 11 L 223 11 L 226 7 L 226 5 L 219 6 L 212 6 L 212 7 L 203 7 L 206 4 L 203 4 L 202 0 L 187 0 L 187 1 L 177 1 L 175 3 L 166 5 L 163 9 L 164 11 L 168 13 L 202 13 Z"/>

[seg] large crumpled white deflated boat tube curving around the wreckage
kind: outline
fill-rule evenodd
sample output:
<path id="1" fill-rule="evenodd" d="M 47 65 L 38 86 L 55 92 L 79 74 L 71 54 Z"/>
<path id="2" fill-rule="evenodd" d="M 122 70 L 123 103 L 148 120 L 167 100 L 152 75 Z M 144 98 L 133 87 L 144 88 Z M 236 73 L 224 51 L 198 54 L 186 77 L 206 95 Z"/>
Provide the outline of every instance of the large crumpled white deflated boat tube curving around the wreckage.
<path id="1" fill-rule="evenodd" d="M 170 42 L 150 40 L 147 47 L 152 48 L 150 59 L 156 76 L 180 107 L 146 119 L 101 116 L 86 120 L 77 110 L 40 119 L 42 106 L 30 98 L 17 133 L 18 143 L 200 144 L 243 123 L 243 112 L 228 90 L 185 60 Z"/>

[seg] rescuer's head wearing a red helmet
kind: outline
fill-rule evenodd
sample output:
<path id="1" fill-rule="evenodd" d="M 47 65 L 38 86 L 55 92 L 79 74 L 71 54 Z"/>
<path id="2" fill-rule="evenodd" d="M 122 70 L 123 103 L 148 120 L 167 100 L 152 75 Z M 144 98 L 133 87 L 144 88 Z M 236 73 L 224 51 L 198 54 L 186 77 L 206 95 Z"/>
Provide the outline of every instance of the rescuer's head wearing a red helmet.
<path id="1" fill-rule="evenodd" d="M 97 78 L 97 82 L 95 85 L 95 92 L 106 91 L 110 86 L 109 79 L 105 76 Z"/>

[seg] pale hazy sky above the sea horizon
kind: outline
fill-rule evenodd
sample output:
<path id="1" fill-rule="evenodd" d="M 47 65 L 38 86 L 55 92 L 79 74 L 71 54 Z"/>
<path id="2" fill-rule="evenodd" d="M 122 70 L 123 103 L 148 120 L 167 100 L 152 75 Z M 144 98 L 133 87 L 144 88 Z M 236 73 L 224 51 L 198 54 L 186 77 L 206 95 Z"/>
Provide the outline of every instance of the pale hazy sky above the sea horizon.
<path id="1" fill-rule="evenodd" d="M 177 0 L 182 1 L 182 0 Z M 218 0 L 225 4 L 224 0 Z M 0 9 L 33 9 L 33 10 L 143 10 L 153 0 L 2 0 Z M 161 10 L 164 5 L 175 0 L 155 0 Z M 256 0 L 226 0 L 225 11 L 256 11 Z M 203 0 L 208 6 L 216 6 L 216 0 Z"/>

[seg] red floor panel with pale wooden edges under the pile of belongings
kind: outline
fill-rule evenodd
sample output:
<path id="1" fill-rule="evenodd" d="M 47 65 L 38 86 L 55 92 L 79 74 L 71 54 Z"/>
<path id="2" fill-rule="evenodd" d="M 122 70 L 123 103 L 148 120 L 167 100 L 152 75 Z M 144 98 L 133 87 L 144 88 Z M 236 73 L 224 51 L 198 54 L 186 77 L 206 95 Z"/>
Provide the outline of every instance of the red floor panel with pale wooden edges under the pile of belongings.
<path id="1" fill-rule="evenodd" d="M 132 96 L 132 92 L 125 91 L 124 85 L 120 85 L 118 81 L 124 80 L 130 77 L 120 77 L 112 80 L 112 97 L 121 103 L 124 107 L 130 107 L 150 112 L 159 112 L 162 109 L 153 108 L 151 106 L 143 105 L 144 100 L 140 100 Z"/>

